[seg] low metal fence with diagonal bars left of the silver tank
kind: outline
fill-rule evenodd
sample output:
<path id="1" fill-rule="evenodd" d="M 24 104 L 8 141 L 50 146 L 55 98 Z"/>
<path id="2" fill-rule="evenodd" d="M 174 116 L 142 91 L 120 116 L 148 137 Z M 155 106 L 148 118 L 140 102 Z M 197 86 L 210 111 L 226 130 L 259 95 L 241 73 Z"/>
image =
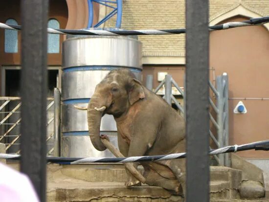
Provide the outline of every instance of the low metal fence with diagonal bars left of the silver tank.
<path id="1" fill-rule="evenodd" d="M 54 97 L 47 98 L 46 145 L 47 156 L 60 156 L 61 93 L 54 89 Z M 7 154 L 20 154 L 21 97 L 0 97 L 0 143 Z"/>

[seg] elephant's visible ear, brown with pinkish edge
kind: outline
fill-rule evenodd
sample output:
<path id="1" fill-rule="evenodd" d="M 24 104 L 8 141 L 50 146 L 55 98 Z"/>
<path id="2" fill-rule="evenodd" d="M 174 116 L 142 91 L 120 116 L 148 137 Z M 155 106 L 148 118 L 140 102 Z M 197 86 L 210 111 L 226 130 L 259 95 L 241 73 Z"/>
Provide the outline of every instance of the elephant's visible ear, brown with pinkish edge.
<path id="1" fill-rule="evenodd" d="M 142 84 L 137 79 L 130 79 L 128 85 L 128 93 L 129 93 L 129 103 L 133 105 L 139 99 L 143 99 L 145 97 L 144 89 Z"/>

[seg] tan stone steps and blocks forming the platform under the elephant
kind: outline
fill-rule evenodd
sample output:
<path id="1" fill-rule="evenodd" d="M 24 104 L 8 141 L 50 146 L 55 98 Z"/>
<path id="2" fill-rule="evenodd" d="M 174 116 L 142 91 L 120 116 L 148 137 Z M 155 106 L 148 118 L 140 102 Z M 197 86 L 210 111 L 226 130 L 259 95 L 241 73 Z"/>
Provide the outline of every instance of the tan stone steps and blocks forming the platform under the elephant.
<path id="1" fill-rule="evenodd" d="M 18 164 L 12 165 L 17 167 Z M 210 198 L 237 199 L 241 171 L 210 167 Z M 47 165 L 48 202 L 181 202 L 182 197 L 156 186 L 126 188 L 122 164 Z M 195 191 L 194 191 L 195 193 Z"/>

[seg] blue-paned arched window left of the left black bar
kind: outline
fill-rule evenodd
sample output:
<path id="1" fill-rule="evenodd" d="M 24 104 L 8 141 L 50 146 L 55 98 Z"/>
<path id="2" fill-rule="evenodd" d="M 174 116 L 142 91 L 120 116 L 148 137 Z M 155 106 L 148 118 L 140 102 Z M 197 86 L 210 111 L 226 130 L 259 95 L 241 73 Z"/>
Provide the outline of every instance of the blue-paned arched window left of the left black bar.
<path id="1" fill-rule="evenodd" d="M 18 22 L 14 19 L 8 19 L 5 23 L 18 25 Z M 18 52 L 18 31 L 12 29 L 5 29 L 5 52 Z"/>

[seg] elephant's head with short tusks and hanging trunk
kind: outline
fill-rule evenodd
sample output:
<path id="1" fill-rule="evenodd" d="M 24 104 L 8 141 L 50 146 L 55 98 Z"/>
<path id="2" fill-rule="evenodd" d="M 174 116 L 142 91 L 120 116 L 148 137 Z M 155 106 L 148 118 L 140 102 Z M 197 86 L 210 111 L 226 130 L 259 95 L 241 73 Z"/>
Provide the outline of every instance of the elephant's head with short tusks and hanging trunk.
<path id="1" fill-rule="evenodd" d="M 127 69 L 112 70 L 96 86 L 87 109 L 90 140 L 95 149 L 106 149 L 99 136 L 101 117 L 107 113 L 118 118 L 144 97 L 142 84 Z"/>

